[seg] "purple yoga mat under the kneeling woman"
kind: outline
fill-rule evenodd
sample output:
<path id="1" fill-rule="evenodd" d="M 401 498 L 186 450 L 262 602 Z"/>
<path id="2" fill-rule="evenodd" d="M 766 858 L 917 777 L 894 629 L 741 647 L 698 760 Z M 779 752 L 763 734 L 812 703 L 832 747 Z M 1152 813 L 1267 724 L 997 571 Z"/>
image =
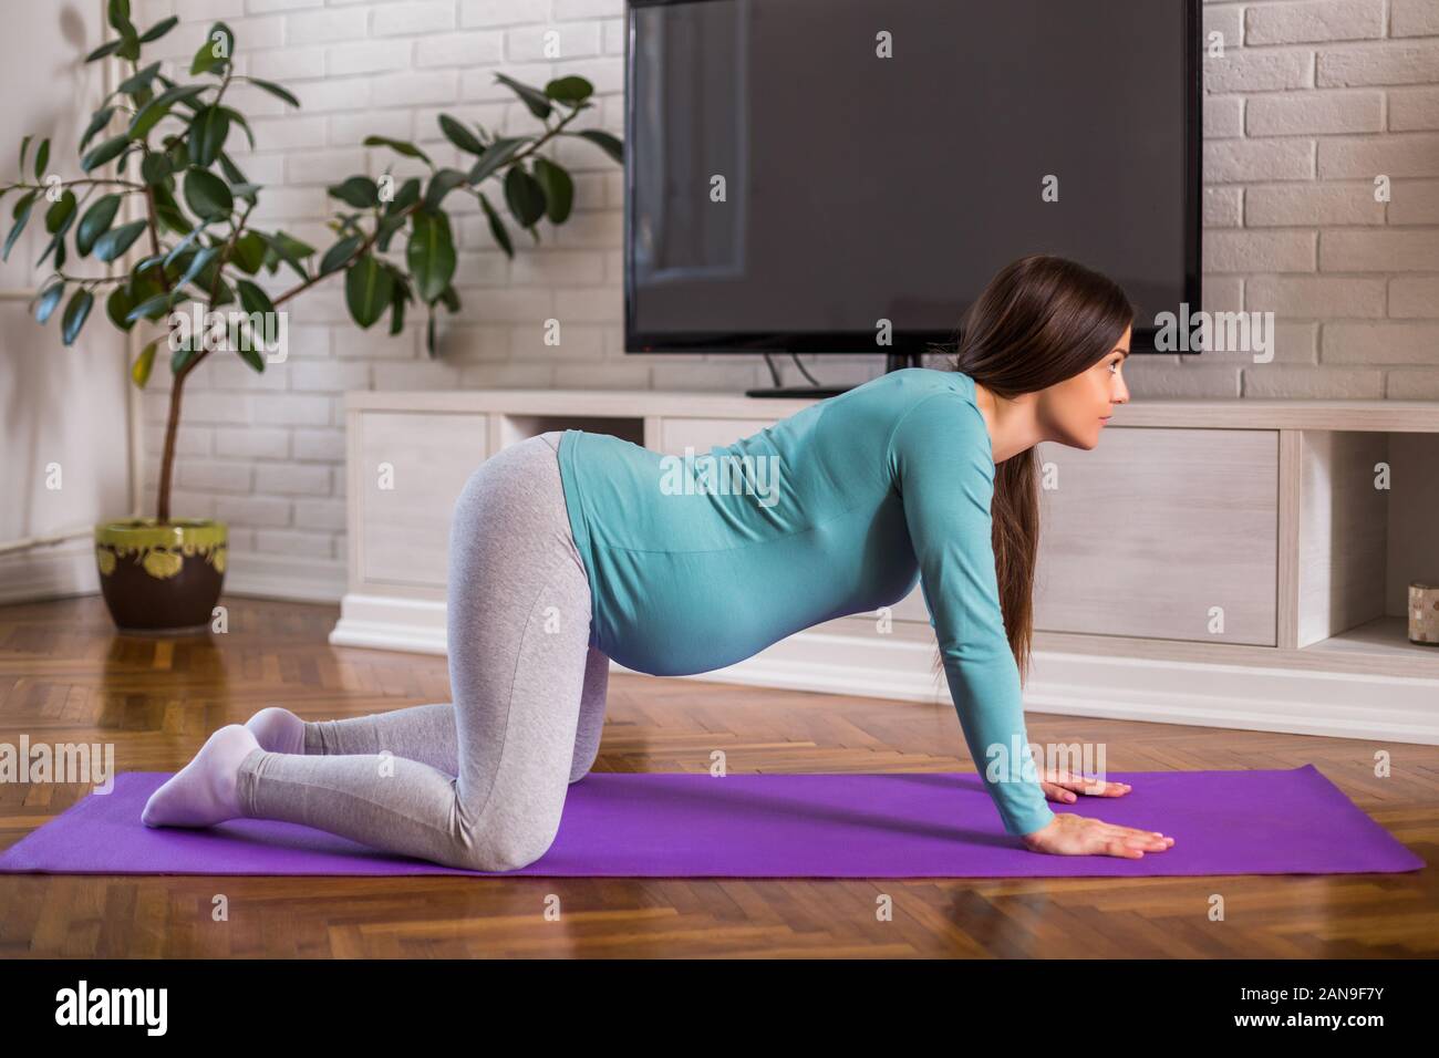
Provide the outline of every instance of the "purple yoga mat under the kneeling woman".
<path id="1" fill-rule="evenodd" d="M 0 854 L 46 874 L 413 875 L 462 871 L 376 852 L 298 823 L 232 819 L 150 829 L 140 810 L 170 773 L 127 772 Z M 1004 833 L 976 774 L 590 773 L 560 832 L 505 875 L 1019 878 L 1416 871 L 1423 861 L 1305 764 L 1274 772 L 1121 772 L 1122 797 L 1050 808 L 1174 836 L 1143 859 L 1052 856 Z"/>

